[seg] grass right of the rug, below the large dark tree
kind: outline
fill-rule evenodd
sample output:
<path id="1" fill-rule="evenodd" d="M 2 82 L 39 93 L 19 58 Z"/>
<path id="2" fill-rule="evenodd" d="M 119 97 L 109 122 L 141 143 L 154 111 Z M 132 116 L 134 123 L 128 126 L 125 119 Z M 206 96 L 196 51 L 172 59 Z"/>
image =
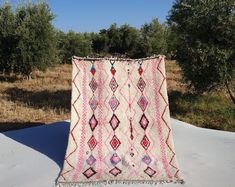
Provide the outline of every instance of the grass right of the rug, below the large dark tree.
<path id="1" fill-rule="evenodd" d="M 199 127 L 235 132 L 235 106 L 226 91 L 196 95 L 183 83 L 179 65 L 166 63 L 171 116 Z"/>

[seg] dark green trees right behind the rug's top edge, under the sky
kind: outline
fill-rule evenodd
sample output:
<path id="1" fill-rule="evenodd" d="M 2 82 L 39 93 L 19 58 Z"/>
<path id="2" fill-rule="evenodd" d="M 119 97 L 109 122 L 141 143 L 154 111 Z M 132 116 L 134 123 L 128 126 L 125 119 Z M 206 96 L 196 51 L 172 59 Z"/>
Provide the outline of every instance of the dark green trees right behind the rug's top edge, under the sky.
<path id="1" fill-rule="evenodd" d="M 112 24 L 109 29 L 93 35 L 92 47 L 95 53 L 139 58 L 167 54 L 167 37 L 168 28 L 157 19 L 145 23 L 140 30 L 129 25 L 118 27 Z"/>

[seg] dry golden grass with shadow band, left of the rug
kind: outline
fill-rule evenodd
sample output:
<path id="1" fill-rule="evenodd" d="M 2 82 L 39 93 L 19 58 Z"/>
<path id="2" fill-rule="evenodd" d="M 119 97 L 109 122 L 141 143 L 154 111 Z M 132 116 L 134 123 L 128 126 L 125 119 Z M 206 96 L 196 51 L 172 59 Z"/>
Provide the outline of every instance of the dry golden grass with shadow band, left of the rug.
<path id="1" fill-rule="evenodd" d="M 69 119 L 71 65 L 33 72 L 33 79 L 0 82 L 0 131 Z"/>

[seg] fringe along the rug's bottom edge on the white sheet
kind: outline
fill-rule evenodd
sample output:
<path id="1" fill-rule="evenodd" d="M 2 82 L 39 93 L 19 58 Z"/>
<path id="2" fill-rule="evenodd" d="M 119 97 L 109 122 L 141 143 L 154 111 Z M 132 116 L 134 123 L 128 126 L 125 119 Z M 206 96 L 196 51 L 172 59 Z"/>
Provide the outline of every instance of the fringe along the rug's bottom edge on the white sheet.
<path id="1" fill-rule="evenodd" d="M 184 180 L 177 179 L 175 181 L 142 181 L 142 180 L 105 180 L 105 181 L 91 181 L 91 182 L 58 182 L 54 187 L 84 187 L 84 186 L 93 186 L 93 185 L 109 185 L 109 184 L 166 184 L 166 183 L 180 183 L 184 184 Z"/>

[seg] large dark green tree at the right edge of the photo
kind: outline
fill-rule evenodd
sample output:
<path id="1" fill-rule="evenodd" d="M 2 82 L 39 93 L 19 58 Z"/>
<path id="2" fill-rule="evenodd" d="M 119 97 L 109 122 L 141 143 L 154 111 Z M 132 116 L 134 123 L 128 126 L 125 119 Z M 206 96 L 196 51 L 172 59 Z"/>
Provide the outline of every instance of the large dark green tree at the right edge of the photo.
<path id="1" fill-rule="evenodd" d="M 168 18 L 176 59 L 197 92 L 234 79 L 235 1 L 177 0 Z"/>

